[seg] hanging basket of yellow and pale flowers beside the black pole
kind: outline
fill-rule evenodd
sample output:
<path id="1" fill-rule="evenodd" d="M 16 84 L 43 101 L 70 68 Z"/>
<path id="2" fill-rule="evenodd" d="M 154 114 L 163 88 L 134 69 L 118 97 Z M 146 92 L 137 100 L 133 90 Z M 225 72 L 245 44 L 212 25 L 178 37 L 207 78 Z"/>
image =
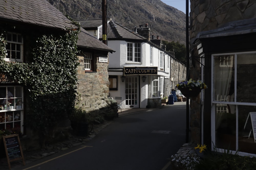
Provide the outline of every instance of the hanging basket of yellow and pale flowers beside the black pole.
<path id="1" fill-rule="evenodd" d="M 186 97 L 197 97 L 202 89 L 206 89 L 207 85 L 201 80 L 182 81 L 176 85 L 178 90 Z"/>

